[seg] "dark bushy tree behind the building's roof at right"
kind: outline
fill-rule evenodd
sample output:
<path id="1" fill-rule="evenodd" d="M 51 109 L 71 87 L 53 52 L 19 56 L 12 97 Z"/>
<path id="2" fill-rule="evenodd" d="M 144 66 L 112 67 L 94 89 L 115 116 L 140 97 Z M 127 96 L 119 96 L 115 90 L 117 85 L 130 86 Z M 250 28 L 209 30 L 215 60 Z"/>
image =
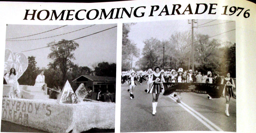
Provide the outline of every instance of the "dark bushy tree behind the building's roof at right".
<path id="1" fill-rule="evenodd" d="M 117 65 L 115 63 L 101 62 L 94 68 L 96 76 L 116 77 Z"/>

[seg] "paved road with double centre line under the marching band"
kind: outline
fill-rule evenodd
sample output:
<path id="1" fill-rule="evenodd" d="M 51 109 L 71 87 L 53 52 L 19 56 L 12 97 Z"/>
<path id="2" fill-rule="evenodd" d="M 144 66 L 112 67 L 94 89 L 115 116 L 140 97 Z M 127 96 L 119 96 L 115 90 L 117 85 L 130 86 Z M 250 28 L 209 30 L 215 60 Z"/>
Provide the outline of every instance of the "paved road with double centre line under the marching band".
<path id="1" fill-rule="evenodd" d="M 159 95 L 157 113 L 152 115 L 152 95 L 146 83 L 136 86 L 130 99 L 127 84 L 121 87 L 121 132 L 147 131 L 230 131 L 236 132 L 236 99 L 230 99 L 229 114 L 225 98 L 209 100 L 207 95 L 182 93 L 182 102 Z"/>

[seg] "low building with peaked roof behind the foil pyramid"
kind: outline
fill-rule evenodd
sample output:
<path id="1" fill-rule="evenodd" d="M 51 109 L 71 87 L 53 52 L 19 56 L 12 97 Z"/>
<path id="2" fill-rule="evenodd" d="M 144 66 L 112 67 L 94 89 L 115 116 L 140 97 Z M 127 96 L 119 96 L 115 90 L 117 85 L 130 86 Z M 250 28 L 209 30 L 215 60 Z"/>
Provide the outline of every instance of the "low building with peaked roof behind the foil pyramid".
<path id="1" fill-rule="evenodd" d="M 91 86 L 93 88 L 93 92 L 97 92 L 99 88 L 103 88 L 105 91 L 109 90 L 109 92 L 115 93 L 115 77 L 81 75 L 72 81 L 72 87 L 79 86 L 82 83 L 86 88 Z"/>

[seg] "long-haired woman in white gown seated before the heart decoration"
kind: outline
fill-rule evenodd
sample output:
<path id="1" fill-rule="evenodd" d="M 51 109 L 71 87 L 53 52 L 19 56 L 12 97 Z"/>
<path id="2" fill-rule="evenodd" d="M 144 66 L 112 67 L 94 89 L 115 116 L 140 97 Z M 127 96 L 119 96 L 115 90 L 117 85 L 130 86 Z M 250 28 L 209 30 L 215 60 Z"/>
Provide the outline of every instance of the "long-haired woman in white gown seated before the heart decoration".
<path id="1" fill-rule="evenodd" d="M 19 93 L 21 91 L 19 89 L 16 70 L 14 68 L 11 68 L 10 73 L 6 73 L 4 78 L 7 84 L 11 86 L 9 90 L 9 98 L 17 98 L 17 97 L 19 98 L 20 97 Z"/>

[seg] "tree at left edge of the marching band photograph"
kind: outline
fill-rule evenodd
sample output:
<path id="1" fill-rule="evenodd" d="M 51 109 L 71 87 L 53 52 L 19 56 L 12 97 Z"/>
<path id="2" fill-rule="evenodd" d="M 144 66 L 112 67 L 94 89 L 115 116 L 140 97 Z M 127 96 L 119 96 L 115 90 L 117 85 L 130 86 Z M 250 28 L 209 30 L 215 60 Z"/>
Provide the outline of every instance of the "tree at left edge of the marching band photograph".
<path id="1" fill-rule="evenodd" d="M 135 43 L 128 38 L 130 24 L 123 24 L 122 34 L 122 71 L 131 69 L 131 60 L 133 57 L 139 57 L 139 49 Z"/>

